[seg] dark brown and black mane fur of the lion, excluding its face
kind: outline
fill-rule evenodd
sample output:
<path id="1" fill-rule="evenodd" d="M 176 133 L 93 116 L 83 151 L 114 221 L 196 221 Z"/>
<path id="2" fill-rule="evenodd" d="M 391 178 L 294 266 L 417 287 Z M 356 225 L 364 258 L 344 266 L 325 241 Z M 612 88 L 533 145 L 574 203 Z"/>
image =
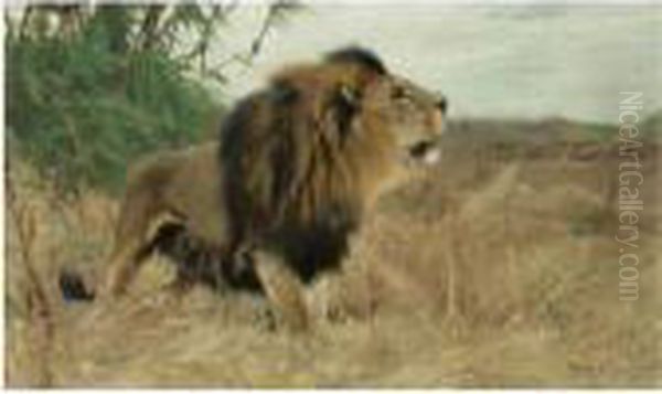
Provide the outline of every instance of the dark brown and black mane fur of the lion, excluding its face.
<path id="1" fill-rule="evenodd" d="M 386 73 L 374 53 L 360 47 L 329 53 L 324 65 Z M 220 134 L 220 166 L 235 247 L 278 253 L 309 281 L 339 266 L 361 219 L 352 171 L 332 174 L 339 172 L 334 160 L 350 155 L 343 143 L 360 106 L 343 97 L 333 77 L 311 92 L 293 74 L 274 79 L 231 111 Z M 331 177 L 335 183 L 319 181 Z"/>

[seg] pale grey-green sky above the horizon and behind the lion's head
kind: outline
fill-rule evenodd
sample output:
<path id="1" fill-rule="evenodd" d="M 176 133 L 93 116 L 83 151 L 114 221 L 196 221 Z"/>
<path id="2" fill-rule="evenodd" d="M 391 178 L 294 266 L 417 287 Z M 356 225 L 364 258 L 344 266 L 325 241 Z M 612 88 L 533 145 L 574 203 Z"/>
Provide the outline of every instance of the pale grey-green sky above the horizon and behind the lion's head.
<path id="1" fill-rule="evenodd" d="M 239 11 L 214 50 L 246 47 L 263 12 Z M 662 109 L 660 7 L 311 6 L 271 32 L 254 67 L 228 70 L 228 95 L 350 43 L 444 92 L 451 115 L 611 123 L 620 90 L 643 92 L 644 115 Z"/>

